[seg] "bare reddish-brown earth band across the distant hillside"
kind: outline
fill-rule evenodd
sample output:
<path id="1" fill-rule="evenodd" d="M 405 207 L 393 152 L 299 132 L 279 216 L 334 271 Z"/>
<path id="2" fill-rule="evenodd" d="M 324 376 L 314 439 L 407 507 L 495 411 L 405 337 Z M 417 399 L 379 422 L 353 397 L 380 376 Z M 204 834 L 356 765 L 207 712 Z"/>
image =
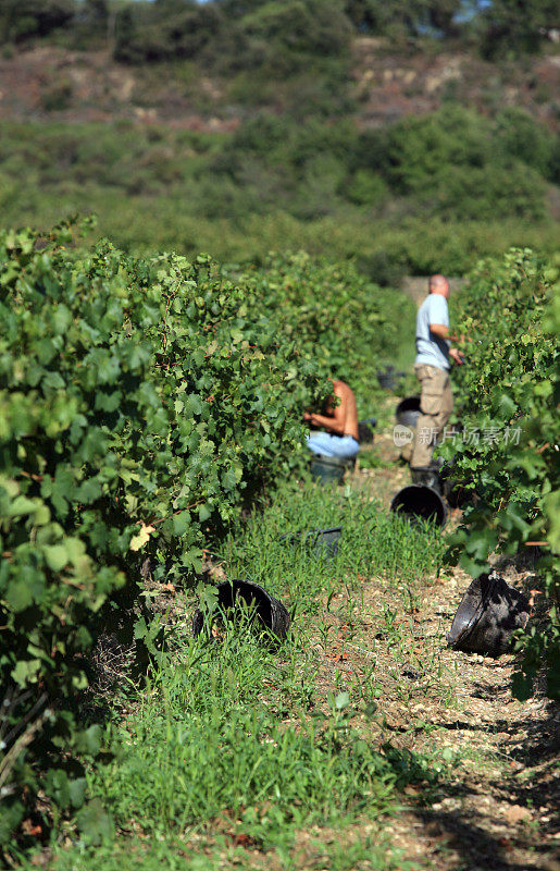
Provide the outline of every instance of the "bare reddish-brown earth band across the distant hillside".
<path id="1" fill-rule="evenodd" d="M 109 49 L 72 51 L 38 45 L 0 57 L 2 121 L 64 120 L 140 124 L 231 133 L 259 109 L 289 111 L 298 81 L 270 82 L 239 93 L 239 82 L 200 75 L 194 64 L 130 66 L 112 59 Z M 525 63 L 484 61 L 462 51 L 391 52 L 387 40 L 358 37 L 348 79 L 356 101 L 351 113 L 360 127 L 378 126 L 403 115 L 433 112 L 458 101 L 493 114 L 506 107 L 526 110 L 558 131 L 555 95 L 560 89 L 560 57 L 545 54 Z"/>

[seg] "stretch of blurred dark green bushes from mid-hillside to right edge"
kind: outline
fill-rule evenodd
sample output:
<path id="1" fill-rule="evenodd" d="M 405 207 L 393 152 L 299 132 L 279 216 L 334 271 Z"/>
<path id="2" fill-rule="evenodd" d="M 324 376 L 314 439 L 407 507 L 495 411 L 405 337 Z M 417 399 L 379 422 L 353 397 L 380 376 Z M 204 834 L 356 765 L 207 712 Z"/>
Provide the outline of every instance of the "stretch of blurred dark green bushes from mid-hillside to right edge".
<path id="1" fill-rule="evenodd" d="M 393 194 L 423 218 L 539 220 L 555 143 L 523 112 L 490 121 L 448 107 L 362 134 L 348 120 L 301 126 L 261 113 L 224 143 L 212 170 L 247 192 L 248 210 L 284 203 L 310 219 L 347 203 L 379 210 Z"/>

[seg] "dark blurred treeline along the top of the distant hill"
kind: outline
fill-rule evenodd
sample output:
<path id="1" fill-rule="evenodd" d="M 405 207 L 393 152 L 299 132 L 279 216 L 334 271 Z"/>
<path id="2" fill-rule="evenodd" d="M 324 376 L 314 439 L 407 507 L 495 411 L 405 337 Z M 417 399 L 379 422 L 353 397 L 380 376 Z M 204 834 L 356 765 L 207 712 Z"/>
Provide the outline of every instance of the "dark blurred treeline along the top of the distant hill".
<path id="1" fill-rule="evenodd" d="M 289 73 L 306 57 L 343 54 L 360 34 L 514 56 L 538 51 L 557 25 L 555 0 L 0 0 L 3 44 L 59 32 L 75 48 L 109 41 L 127 63 L 198 58 L 224 72 Z"/>

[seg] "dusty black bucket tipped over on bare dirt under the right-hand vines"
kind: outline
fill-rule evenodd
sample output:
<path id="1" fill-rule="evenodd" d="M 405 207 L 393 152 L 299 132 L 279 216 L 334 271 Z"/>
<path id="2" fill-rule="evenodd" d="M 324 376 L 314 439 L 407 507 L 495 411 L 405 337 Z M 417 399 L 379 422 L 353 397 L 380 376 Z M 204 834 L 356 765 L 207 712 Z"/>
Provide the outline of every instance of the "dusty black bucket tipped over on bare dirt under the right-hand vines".
<path id="1" fill-rule="evenodd" d="M 511 636 L 528 619 L 530 604 L 523 593 L 496 573 L 473 580 L 457 609 L 447 643 L 465 653 L 500 657 Z"/>

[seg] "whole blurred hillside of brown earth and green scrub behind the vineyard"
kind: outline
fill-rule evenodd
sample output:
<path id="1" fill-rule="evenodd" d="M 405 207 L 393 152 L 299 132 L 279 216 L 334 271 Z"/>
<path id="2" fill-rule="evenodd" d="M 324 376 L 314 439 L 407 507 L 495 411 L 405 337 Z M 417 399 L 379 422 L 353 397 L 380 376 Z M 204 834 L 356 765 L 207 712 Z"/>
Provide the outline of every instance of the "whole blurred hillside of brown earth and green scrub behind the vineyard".
<path id="1" fill-rule="evenodd" d="M 66 32 L 4 45 L 4 224 L 94 212 L 127 250 L 302 247 L 389 285 L 509 245 L 555 250 L 555 45 L 489 59 L 465 38 L 338 44 L 333 20 L 296 51 L 287 24 L 264 38 L 242 22 L 241 54 L 221 32 L 191 57 L 141 60 L 161 36 L 149 22 L 126 51 Z"/>

